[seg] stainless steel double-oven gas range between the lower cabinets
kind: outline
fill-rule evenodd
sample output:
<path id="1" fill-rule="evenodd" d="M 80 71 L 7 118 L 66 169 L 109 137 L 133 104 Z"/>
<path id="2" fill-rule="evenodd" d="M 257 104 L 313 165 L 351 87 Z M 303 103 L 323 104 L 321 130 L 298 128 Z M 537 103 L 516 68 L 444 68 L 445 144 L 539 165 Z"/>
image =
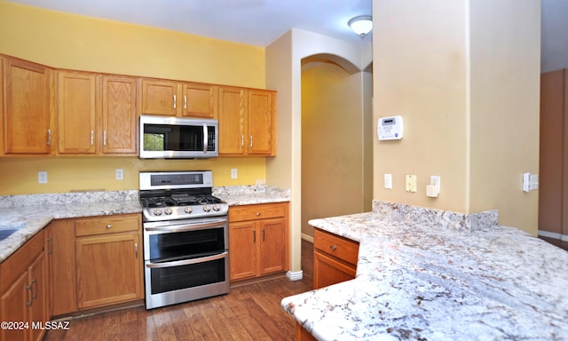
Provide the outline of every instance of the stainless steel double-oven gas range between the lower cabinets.
<path id="1" fill-rule="evenodd" d="M 229 205 L 211 171 L 140 172 L 146 309 L 229 292 Z"/>

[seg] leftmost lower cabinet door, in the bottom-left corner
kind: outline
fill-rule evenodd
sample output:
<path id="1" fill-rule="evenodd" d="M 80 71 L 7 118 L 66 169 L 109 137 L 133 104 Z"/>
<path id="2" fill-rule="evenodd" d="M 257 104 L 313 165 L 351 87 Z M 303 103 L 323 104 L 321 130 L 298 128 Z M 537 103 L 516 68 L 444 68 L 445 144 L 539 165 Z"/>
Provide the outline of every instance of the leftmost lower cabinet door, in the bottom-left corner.
<path id="1" fill-rule="evenodd" d="M 27 321 L 28 305 L 32 294 L 28 288 L 28 273 L 22 273 L 2 297 L 0 297 L 1 321 Z M 28 329 L 0 329 L 0 340 L 25 340 Z"/>

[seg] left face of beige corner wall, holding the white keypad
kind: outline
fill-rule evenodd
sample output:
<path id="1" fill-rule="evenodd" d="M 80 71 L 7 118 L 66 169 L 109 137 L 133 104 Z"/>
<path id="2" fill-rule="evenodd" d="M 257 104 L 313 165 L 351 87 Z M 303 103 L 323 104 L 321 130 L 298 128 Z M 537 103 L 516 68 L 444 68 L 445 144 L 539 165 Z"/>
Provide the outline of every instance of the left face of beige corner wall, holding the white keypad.
<path id="1" fill-rule="evenodd" d="M 375 1 L 374 123 L 401 115 L 404 138 L 375 138 L 375 199 L 468 212 L 464 1 Z M 384 189 L 383 174 L 392 174 Z M 405 176 L 417 176 L 417 192 Z M 430 175 L 441 194 L 426 196 Z"/>

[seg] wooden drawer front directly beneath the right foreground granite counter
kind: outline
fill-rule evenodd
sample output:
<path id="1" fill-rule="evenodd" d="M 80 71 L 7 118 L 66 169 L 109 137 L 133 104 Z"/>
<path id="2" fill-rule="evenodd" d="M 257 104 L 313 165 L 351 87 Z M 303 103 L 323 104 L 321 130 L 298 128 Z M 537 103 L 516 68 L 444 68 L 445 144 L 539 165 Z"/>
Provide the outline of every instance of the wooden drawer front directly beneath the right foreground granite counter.
<path id="1" fill-rule="evenodd" d="M 313 230 L 313 247 L 352 265 L 357 265 L 359 243 L 319 230 Z"/>

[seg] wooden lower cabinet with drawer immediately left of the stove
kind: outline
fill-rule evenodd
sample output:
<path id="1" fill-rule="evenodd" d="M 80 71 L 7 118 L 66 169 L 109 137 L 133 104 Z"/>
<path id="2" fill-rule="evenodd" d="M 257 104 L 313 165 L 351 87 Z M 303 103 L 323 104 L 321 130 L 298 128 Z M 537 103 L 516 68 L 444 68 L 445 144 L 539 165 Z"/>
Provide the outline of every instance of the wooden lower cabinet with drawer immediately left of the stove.
<path id="1" fill-rule="evenodd" d="M 139 214 L 51 222 L 51 315 L 143 298 L 140 228 Z"/>

